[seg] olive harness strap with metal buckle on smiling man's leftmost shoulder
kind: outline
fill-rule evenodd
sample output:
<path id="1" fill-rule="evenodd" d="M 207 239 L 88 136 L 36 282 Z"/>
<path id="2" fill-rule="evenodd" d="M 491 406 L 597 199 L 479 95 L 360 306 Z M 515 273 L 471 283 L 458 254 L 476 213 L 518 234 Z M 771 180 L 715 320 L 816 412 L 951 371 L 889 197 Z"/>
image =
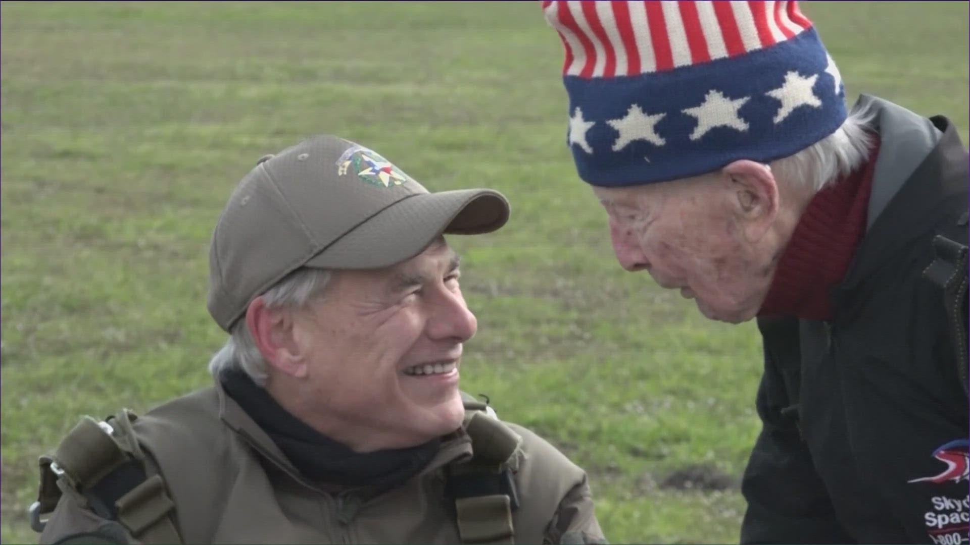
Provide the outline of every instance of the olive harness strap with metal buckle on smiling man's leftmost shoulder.
<path id="1" fill-rule="evenodd" d="M 127 409 L 101 422 L 84 416 L 53 453 L 40 458 L 40 492 L 30 507 L 35 531 L 44 530 L 42 517 L 67 494 L 141 542 L 181 543 L 175 503 L 132 429 L 137 418 Z"/>

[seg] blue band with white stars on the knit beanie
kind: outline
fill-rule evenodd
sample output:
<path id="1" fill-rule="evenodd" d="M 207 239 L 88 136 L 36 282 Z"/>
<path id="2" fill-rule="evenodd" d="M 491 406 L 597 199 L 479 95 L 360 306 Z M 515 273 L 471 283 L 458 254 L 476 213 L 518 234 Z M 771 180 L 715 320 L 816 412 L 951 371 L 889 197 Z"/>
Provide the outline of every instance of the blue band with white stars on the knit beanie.
<path id="1" fill-rule="evenodd" d="M 633 77 L 566 76 L 579 176 L 629 186 L 787 157 L 846 118 L 838 69 L 814 28 L 772 48 Z"/>

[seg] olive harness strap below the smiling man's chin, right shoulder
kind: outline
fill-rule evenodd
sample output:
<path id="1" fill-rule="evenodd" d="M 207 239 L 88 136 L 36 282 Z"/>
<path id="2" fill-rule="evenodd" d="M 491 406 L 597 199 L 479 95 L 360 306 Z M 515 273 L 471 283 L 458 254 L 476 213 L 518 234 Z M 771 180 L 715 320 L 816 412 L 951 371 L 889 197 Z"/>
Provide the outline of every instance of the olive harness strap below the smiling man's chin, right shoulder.
<path id="1" fill-rule="evenodd" d="M 512 512 L 519 507 L 519 496 L 513 473 L 522 439 L 487 402 L 464 393 L 462 398 L 473 456 L 446 469 L 459 536 L 462 543 L 515 543 Z"/>

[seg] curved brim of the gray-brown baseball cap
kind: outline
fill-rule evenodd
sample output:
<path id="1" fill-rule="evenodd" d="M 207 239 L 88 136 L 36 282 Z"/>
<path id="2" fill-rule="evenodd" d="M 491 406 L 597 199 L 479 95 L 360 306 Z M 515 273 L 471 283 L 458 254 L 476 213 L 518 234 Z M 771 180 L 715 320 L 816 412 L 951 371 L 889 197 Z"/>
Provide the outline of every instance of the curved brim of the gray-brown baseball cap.
<path id="1" fill-rule="evenodd" d="M 306 266 L 379 269 L 404 262 L 438 235 L 491 233 L 508 221 L 508 201 L 490 189 L 418 193 L 384 208 L 335 241 Z"/>

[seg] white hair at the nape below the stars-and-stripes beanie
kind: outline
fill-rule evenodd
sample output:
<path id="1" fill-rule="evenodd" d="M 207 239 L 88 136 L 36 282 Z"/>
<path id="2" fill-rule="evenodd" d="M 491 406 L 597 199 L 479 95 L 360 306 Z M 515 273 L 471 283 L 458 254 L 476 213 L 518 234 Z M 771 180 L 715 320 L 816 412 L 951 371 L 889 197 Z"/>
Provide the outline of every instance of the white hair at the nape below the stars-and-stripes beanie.
<path id="1" fill-rule="evenodd" d="M 818 192 L 842 176 L 848 176 L 869 158 L 876 112 L 871 108 L 849 113 L 834 133 L 769 166 L 782 182 L 807 184 Z"/>

